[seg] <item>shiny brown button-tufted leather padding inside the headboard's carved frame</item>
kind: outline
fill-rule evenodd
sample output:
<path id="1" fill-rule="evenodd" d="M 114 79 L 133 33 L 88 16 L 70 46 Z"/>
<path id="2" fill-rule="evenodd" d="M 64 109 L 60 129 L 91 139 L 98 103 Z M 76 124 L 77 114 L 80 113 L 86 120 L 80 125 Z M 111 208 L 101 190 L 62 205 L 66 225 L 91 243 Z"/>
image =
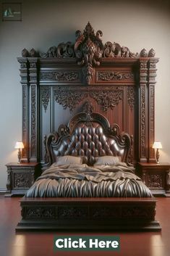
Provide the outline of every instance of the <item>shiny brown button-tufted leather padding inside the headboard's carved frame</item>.
<path id="1" fill-rule="evenodd" d="M 53 149 L 55 156 L 82 156 L 83 162 L 93 165 L 95 157 L 104 155 L 124 156 L 121 147 L 113 136 L 106 136 L 98 123 L 78 123 L 71 136 L 61 140 L 58 149 Z M 54 157 L 55 159 L 55 157 Z"/>

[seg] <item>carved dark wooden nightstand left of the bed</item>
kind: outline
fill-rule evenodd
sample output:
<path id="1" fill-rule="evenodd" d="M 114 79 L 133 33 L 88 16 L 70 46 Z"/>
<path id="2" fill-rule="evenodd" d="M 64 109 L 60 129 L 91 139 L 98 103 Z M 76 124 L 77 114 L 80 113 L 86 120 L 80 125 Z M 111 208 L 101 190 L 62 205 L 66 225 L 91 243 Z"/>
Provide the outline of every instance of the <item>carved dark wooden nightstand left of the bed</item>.
<path id="1" fill-rule="evenodd" d="M 5 197 L 14 194 L 25 194 L 40 175 L 41 166 L 38 162 L 9 162 L 7 165 L 7 193 Z"/>

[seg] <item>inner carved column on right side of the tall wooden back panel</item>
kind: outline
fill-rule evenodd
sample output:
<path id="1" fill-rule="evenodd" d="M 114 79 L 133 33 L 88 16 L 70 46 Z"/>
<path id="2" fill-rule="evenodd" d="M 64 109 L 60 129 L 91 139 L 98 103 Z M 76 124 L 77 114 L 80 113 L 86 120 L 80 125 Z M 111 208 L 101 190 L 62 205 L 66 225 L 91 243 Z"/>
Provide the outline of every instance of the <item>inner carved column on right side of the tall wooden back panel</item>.
<path id="1" fill-rule="evenodd" d="M 146 162 L 148 158 L 148 97 L 147 68 L 148 59 L 140 58 L 140 88 L 139 88 L 139 161 Z"/>

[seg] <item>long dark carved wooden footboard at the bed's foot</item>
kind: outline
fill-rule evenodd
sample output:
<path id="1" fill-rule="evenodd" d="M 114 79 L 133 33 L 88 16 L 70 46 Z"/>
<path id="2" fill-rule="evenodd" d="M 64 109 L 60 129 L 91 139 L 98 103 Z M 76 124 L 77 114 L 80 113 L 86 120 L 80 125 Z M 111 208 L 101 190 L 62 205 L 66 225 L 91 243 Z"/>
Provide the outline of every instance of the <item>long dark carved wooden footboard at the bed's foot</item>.
<path id="1" fill-rule="evenodd" d="M 16 231 L 160 231 L 153 198 L 25 198 Z"/>

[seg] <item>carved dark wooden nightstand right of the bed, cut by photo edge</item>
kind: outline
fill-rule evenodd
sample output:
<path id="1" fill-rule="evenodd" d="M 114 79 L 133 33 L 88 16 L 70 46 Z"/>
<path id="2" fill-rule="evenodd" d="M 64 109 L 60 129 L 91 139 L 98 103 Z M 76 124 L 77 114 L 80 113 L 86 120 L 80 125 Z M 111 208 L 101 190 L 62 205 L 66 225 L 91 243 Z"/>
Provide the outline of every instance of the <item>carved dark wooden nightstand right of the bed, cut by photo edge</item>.
<path id="1" fill-rule="evenodd" d="M 142 178 L 153 194 L 170 197 L 170 163 L 139 162 L 137 175 Z"/>

